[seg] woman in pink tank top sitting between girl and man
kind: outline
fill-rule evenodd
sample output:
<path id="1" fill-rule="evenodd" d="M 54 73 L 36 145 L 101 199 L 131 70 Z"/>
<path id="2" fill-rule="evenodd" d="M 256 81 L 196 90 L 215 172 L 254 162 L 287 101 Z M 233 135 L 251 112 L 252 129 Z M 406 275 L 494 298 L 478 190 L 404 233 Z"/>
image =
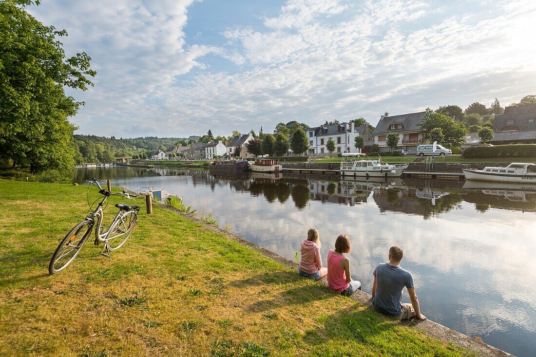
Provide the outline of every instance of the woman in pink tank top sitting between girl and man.
<path id="1" fill-rule="evenodd" d="M 332 291 L 346 296 L 361 290 L 361 282 L 352 280 L 350 274 L 350 260 L 344 255 L 349 252 L 350 240 L 341 234 L 335 241 L 335 249 L 327 254 L 327 285 Z"/>

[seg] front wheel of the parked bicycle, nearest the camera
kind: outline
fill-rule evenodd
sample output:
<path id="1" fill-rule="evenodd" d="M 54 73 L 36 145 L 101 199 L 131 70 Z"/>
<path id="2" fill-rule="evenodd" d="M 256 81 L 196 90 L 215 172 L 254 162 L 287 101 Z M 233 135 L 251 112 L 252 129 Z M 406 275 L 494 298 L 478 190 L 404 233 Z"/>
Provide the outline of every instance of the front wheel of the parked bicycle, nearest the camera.
<path id="1" fill-rule="evenodd" d="M 84 243 L 87 241 L 87 238 L 90 236 L 92 229 L 93 222 L 86 219 L 81 221 L 67 233 L 62 242 L 59 243 L 52 259 L 50 259 L 50 264 L 48 265 L 48 272 L 50 275 L 65 269 L 73 260 L 75 260 L 76 256 L 84 246 Z"/>

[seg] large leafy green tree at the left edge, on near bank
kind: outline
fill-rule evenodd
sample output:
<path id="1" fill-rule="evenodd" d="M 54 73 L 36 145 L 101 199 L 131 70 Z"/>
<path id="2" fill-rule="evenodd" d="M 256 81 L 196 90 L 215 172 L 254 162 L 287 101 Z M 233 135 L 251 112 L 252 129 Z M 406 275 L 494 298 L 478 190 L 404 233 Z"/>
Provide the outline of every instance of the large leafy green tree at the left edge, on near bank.
<path id="1" fill-rule="evenodd" d="M 76 129 L 68 117 L 83 105 L 64 87 L 87 90 L 91 58 L 84 52 L 66 57 L 58 38 L 65 30 L 32 17 L 30 0 L 0 1 L 0 158 L 39 172 L 71 170 Z"/>

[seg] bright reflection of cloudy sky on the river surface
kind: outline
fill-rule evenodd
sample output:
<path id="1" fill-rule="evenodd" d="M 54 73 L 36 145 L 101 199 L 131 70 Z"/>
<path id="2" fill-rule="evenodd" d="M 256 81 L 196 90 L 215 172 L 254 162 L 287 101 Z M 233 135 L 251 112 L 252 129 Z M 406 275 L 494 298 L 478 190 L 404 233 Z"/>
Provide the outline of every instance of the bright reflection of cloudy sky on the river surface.
<path id="1" fill-rule="evenodd" d="M 422 198 L 404 197 L 411 192 L 388 197 L 397 204 L 394 210 L 386 201 L 378 205 L 377 192 L 369 192 L 366 202 L 354 206 L 327 204 L 309 199 L 306 184 L 302 187 L 308 196 L 299 197 L 300 206 L 305 205 L 298 210 L 292 196 L 295 182 L 289 183 L 291 197 L 286 202 L 272 192 L 268 196 L 274 203 L 269 203 L 263 190 L 253 196 L 247 182 L 214 180 L 205 173 L 179 180 L 160 176 L 126 182 L 153 184 L 184 197 L 187 204 L 206 206 L 220 227 L 229 225 L 233 233 L 289 259 L 294 259 L 309 227 L 319 230 L 324 264 L 337 235 L 348 234 L 352 275 L 368 292 L 374 267 L 385 261 L 391 245 L 398 244 L 406 251 L 403 266 L 414 274 L 427 316 L 472 336 L 493 337 L 495 345 L 510 351 L 518 348 L 511 336 L 536 338 L 536 272 L 530 269 L 536 266 L 534 213 L 500 209 L 482 213 L 474 202 L 455 195 L 438 198 L 438 205 L 449 196 L 451 202 L 430 211 L 431 204 L 421 203 Z M 400 199 L 411 202 L 415 212 L 431 212 L 429 217 L 400 212 Z M 521 352 L 530 345 L 520 343 L 525 346 L 518 349 Z"/>

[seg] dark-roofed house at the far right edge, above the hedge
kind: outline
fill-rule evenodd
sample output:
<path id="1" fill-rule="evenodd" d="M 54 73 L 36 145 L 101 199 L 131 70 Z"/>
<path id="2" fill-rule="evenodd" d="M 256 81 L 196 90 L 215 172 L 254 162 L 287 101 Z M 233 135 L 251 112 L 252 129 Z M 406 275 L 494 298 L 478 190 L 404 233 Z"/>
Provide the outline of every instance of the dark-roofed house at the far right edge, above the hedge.
<path id="1" fill-rule="evenodd" d="M 493 131 L 536 130 L 536 104 L 504 108 L 504 114 L 495 115 Z"/>

